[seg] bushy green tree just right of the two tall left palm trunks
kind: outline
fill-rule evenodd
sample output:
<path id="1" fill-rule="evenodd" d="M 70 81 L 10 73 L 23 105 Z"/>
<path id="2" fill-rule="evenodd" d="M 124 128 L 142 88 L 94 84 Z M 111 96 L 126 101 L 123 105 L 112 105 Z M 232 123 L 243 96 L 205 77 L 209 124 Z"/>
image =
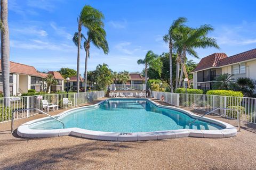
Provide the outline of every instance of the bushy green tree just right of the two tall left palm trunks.
<path id="1" fill-rule="evenodd" d="M 95 76 L 95 82 L 97 83 L 100 90 L 106 90 L 106 87 L 113 82 L 111 70 L 108 69 L 108 65 L 103 63 L 96 67 L 93 71 Z"/>

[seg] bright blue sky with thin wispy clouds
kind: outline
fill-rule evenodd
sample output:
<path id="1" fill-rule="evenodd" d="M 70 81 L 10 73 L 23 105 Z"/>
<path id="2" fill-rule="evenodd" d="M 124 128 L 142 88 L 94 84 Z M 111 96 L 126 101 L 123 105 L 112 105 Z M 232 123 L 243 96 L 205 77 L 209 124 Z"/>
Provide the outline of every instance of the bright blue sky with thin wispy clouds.
<path id="1" fill-rule="evenodd" d="M 230 56 L 256 46 L 254 1 L 11 0 L 11 61 L 33 65 L 39 71 L 57 71 L 61 67 L 76 70 L 77 48 L 72 37 L 77 31 L 77 16 L 86 4 L 105 15 L 110 49 L 104 55 L 92 47 L 89 70 L 106 63 L 114 71 L 141 72 L 137 60 L 148 50 L 168 52 L 162 36 L 179 16 L 185 16 L 190 27 L 214 27 L 210 36 L 217 39 L 221 49 L 196 49 L 200 57 L 221 52 Z M 81 72 L 84 60 L 82 50 Z"/>

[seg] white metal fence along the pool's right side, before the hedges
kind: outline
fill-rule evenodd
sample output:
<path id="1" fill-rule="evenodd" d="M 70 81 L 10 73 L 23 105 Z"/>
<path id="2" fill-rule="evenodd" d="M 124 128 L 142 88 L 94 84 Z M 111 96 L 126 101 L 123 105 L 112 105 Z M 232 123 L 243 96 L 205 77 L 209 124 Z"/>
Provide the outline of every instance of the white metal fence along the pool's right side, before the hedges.
<path id="1" fill-rule="evenodd" d="M 234 108 L 241 114 L 241 120 L 256 123 L 256 98 L 230 97 L 216 95 L 176 94 L 171 92 L 152 91 L 152 97 L 174 106 L 198 109 L 210 112 L 214 108 Z M 228 118 L 238 118 L 235 111 L 215 111 L 214 113 Z"/>

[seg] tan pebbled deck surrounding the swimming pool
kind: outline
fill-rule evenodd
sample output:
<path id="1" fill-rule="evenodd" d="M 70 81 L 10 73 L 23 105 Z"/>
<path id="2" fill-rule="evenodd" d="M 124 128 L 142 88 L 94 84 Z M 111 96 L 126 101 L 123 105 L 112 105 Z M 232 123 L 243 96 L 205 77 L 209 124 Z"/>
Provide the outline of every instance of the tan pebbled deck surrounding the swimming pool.
<path id="1" fill-rule="evenodd" d="M 157 102 L 161 103 L 161 101 Z M 51 112 L 51 115 L 60 112 L 63 110 Z M 16 120 L 14 128 L 41 117 L 45 115 L 38 114 Z M 216 115 L 207 117 L 237 127 L 236 120 L 227 120 Z M 11 122 L 6 122 L 0 124 L 0 167 L 1 169 L 255 169 L 256 125 L 241 123 L 242 131 L 231 138 L 109 142 L 70 136 L 19 138 L 16 133 L 10 134 Z"/>

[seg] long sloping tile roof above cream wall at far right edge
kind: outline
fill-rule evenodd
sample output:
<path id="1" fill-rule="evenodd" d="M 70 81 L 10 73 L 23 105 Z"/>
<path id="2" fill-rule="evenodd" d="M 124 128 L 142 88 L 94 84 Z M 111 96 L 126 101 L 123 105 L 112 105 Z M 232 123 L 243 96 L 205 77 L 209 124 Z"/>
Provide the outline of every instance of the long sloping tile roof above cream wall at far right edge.
<path id="1" fill-rule="evenodd" d="M 243 52 L 243 53 L 240 53 L 240 54 L 236 54 L 236 55 L 230 56 L 228 58 L 223 58 L 218 63 L 218 66 L 223 66 L 223 65 L 229 65 L 229 64 L 233 64 L 233 63 L 243 62 L 243 61 L 246 61 L 246 60 L 251 60 L 253 58 L 256 58 L 256 48 L 251 49 L 251 50 L 249 50 L 247 52 Z"/>

